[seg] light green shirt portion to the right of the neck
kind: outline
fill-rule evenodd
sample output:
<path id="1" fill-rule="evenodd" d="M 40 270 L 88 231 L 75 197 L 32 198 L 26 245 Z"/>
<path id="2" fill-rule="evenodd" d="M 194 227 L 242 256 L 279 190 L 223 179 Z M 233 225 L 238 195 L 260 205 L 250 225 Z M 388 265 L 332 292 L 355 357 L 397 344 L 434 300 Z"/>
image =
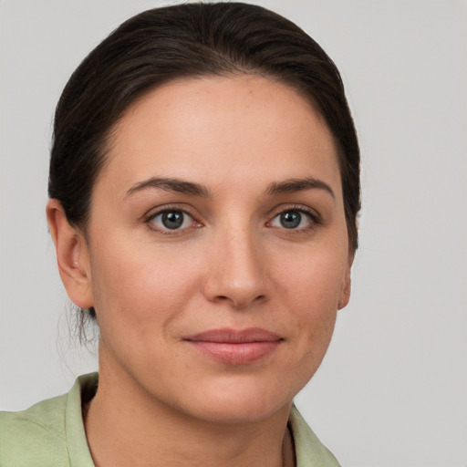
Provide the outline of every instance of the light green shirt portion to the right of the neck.
<path id="1" fill-rule="evenodd" d="M 333 453 L 319 441 L 295 406 L 288 422 L 296 445 L 296 467 L 339 467 Z"/>

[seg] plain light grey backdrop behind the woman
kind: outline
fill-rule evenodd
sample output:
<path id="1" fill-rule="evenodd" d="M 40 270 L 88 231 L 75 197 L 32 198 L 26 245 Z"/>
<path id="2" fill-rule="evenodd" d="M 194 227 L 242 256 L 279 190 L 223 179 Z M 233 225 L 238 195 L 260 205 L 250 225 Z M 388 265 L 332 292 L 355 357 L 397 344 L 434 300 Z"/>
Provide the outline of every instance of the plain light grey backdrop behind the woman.
<path id="1" fill-rule="evenodd" d="M 296 404 L 345 466 L 465 466 L 467 5 L 254 3 L 296 21 L 336 61 L 362 150 L 353 296 Z M 91 48 L 156 5 L 0 0 L 2 410 L 63 393 L 97 368 L 70 338 L 47 233 L 52 115 Z"/>

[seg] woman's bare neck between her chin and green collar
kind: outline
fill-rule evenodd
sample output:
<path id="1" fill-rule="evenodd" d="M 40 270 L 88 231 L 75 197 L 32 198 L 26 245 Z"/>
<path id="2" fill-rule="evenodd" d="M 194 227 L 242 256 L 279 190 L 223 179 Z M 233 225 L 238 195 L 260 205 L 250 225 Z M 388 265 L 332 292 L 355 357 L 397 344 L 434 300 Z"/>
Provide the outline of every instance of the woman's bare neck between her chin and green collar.
<path id="1" fill-rule="evenodd" d="M 199 420 L 154 400 L 130 377 L 101 364 L 99 389 L 84 411 L 96 467 L 295 465 L 290 404 L 265 420 Z"/>

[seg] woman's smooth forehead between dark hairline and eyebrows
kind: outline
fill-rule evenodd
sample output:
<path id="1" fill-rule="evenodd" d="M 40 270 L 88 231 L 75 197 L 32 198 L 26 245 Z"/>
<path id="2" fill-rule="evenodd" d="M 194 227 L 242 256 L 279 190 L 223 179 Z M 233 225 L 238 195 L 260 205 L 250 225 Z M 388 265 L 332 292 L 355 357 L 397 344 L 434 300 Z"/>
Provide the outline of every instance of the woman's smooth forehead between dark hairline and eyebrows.
<path id="1" fill-rule="evenodd" d="M 154 175 L 215 184 L 309 171 L 340 180 L 334 139 L 310 102 L 249 75 L 186 78 L 150 91 L 119 120 L 108 154 L 103 175 L 122 186 Z"/>

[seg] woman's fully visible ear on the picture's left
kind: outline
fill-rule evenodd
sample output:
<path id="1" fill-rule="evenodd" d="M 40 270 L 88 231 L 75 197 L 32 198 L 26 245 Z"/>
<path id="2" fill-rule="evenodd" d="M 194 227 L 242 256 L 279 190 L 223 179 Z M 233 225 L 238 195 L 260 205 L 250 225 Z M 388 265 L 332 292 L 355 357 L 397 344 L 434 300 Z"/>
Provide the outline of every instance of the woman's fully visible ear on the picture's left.
<path id="1" fill-rule="evenodd" d="M 57 252 L 58 272 L 67 295 L 81 308 L 93 306 L 88 244 L 72 227 L 58 200 L 47 202 L 47 223 Z"/>

